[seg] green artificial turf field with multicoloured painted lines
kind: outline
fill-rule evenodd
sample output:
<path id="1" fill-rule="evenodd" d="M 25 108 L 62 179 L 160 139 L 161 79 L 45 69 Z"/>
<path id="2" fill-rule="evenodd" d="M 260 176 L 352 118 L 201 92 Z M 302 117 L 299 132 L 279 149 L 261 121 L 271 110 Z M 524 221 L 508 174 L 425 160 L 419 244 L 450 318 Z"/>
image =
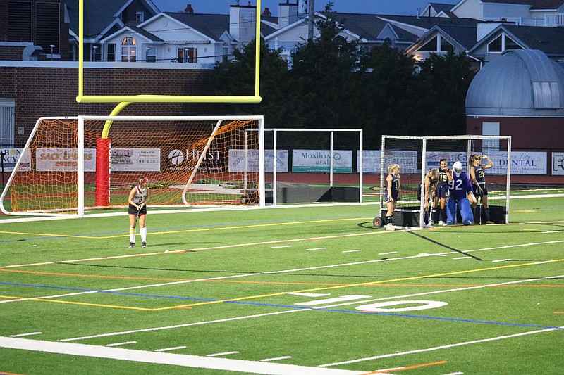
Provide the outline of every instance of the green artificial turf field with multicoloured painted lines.
<path id="1" fill-rule="evenodd" d="M 376 205 L 0 219 L 0 374 L 562 374 L 564 190 L 503 225 Z"/>

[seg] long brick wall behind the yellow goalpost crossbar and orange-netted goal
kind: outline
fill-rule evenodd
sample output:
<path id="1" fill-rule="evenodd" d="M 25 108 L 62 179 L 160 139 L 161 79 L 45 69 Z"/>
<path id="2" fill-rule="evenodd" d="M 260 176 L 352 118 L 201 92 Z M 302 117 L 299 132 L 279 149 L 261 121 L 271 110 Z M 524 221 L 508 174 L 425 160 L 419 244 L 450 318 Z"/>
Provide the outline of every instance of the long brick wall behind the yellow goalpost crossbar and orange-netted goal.
<path id="1" fill-rule="evenodd" d="M 209 95 L 209 70 L 85 70 L 85 95 Z M 109 115 L 117 103 L 77 103 L 78 68 L 0 67 L 0 96 L 16 101 L 16 146 L 42 116 Z M 133 103 L 120 115 L 212 115 L 206 103 Z M 217 114 L 217 113 L 215 113 Z M 17 134 L 18 127 L 24 134 Z"/>

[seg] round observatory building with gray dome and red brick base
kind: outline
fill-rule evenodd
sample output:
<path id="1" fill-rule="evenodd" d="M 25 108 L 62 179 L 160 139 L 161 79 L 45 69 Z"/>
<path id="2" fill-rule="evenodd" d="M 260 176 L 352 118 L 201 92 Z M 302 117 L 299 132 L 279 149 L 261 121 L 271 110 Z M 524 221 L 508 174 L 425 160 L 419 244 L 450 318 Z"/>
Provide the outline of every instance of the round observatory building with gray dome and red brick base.
<path id="1" fill-rule="evenodd" d="M 508 50 L 472 80 L 467 134 L 510 135 L 512 148 L 546 151 L 547 172 L 564 155 L 564 68 L 539 50 Z"/>

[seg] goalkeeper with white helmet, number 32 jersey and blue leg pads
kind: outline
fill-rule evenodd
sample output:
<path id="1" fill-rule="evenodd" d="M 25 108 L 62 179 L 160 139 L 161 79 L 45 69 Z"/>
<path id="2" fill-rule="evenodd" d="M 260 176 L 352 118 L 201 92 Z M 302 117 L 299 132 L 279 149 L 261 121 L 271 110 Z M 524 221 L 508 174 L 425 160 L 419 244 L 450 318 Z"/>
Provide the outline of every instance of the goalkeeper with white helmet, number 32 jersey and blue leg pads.
<path id="1" fill-rule="evenodd" d="M 456 222 L 457 208 L 460 210 L 462 224 L 470 225 L 474 222 L 472 203 L 476 201 L 472 192 L 472 183 L 466 172 L 462 172 L 462 163 L 459 161 L 453 164 L 453 181 L 448 185 L 448 201 L 446 202 L 446 224 Z"/>

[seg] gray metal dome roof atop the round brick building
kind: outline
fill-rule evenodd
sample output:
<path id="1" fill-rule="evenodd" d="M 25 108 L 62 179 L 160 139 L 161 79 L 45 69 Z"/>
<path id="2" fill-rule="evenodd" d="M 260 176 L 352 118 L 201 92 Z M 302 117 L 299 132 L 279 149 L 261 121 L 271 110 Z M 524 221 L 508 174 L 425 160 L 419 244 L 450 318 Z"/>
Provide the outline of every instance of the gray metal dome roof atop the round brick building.
<path id="1" fill-rule="evenodd" d="M 472 80 L 466 114 L 564 116 L 564 68 L 539 50 L 505 51 Z"/>

